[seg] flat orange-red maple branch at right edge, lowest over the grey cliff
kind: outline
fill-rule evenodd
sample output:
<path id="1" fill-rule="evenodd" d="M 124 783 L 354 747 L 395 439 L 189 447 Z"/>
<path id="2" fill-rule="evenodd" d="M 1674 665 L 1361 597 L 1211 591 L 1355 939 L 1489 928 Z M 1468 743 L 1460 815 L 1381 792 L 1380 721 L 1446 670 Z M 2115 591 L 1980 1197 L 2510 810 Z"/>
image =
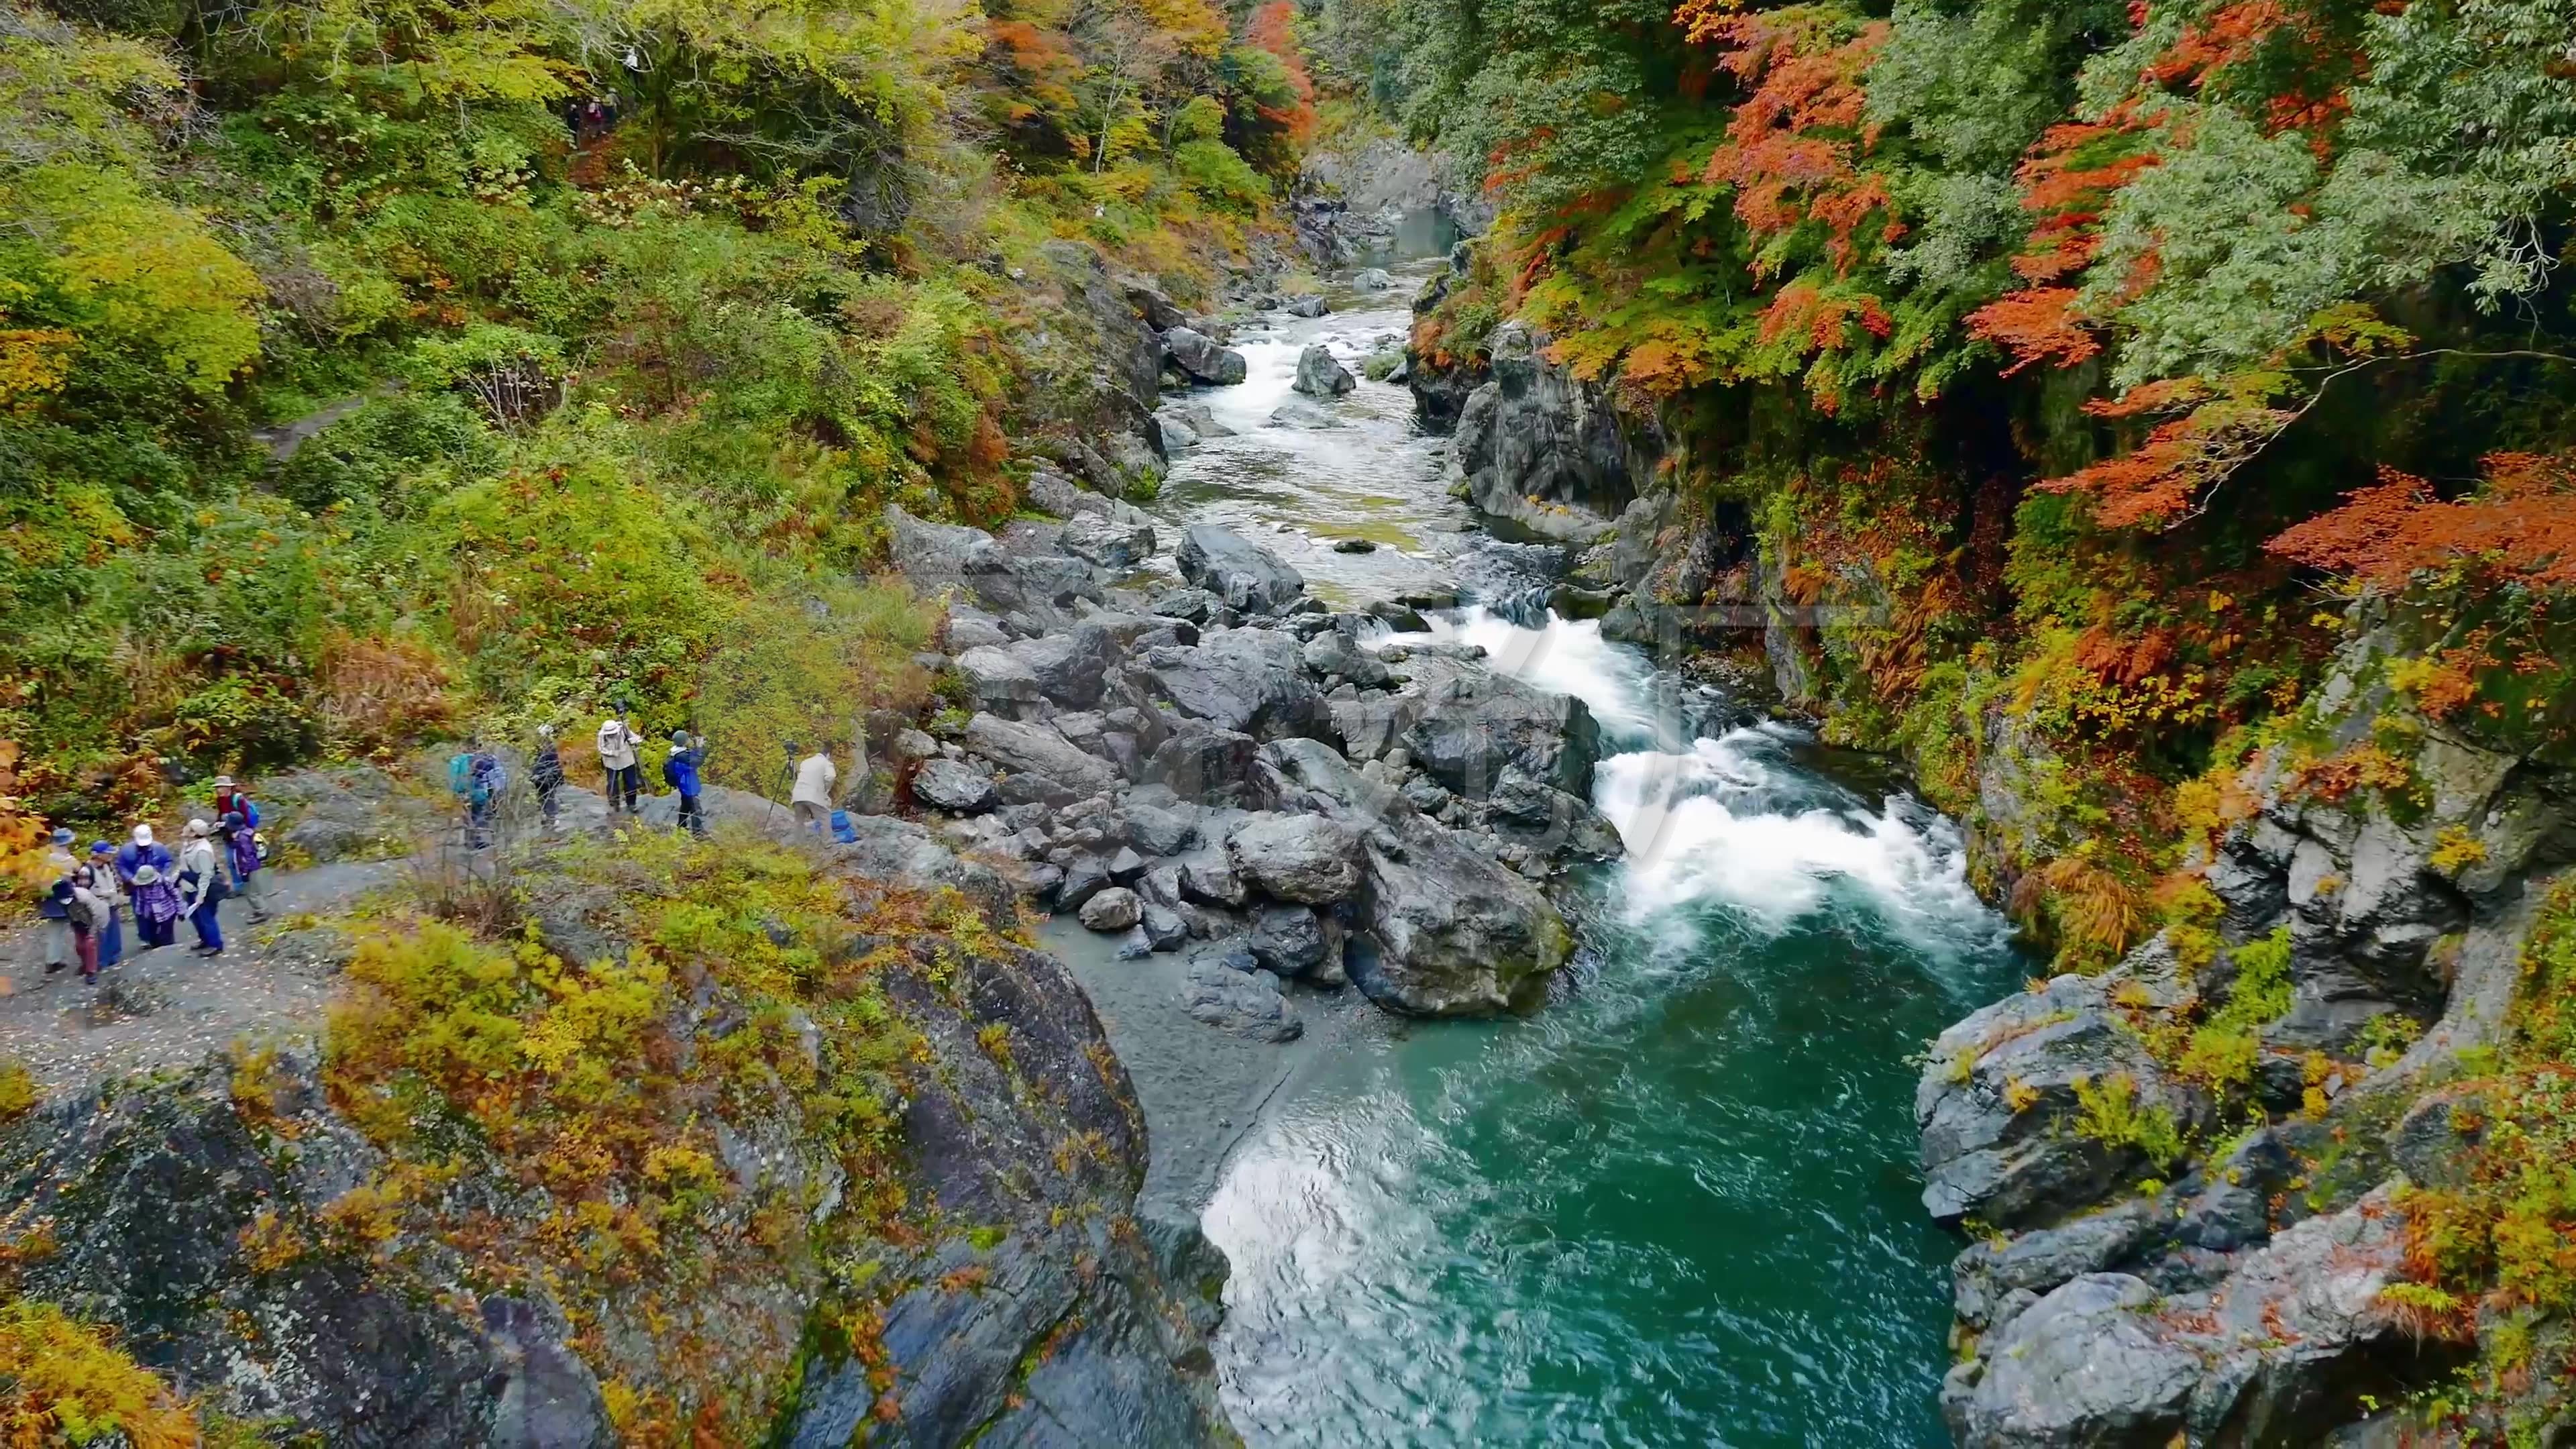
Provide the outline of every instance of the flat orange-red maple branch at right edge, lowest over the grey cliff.
<path id="1" fill-rule="evenodd" d="M 2344 505 L 2267 544 L 2287 559 L 2401 588 L 2427 567 L 2468 565 L 2540 588 L 2576 585 L 2576 456 L 2494 454 L 2486 487 L 2442 503 L 2396 469 Z"/>

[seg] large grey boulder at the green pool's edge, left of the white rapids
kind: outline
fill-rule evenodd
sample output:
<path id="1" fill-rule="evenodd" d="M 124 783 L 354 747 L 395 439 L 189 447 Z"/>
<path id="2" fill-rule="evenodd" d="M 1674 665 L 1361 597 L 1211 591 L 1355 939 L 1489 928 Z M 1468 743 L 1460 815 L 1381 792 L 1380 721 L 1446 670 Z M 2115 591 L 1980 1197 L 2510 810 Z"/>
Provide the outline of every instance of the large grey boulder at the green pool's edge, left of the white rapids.
<path id="1" fill-rule="evenodd" d="M 1350 980 L 1412 1016 L 1535 1006 L 1574 938 L 1528 879 L 1479 853 L 1329 745 L 1275 740 L 1260 755 L 1278 810 L 1324 812 L 1360 838 Z"/>

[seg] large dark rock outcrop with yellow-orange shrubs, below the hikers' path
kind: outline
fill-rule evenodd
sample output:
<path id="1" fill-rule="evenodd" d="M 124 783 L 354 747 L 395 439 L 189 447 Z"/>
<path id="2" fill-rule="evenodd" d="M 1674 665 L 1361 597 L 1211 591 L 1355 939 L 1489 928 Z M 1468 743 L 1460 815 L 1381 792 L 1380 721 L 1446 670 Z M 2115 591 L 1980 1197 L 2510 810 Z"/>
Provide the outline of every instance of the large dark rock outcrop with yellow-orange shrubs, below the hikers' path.
<path id="1" fill-rule="evenodd" d="M 920 828 L 881 825 L 909 841 L 845 846 L 832 866 L 860 890 L 989 879 Z M 559 957 L 636 949 L 613 890 L 533 879 L 531 923 Z M 350 1096 L 299 1036 L 10 1124 L 0 1232 L 18 1287 L 113 1325 L 209 1408 L 327 1444 L 696 1431 L 837 1449 L 863 1426 L 871 1444 L 925 1446 L 1229 1441 L 1206 1348 L 1224 1261 L 1195 1225 L 1133 1217 L 1141 1114 L 1064 967 L 989 931 L 966 949 L 770 931 L 824 959 L 878 951 L 878 1029 L 917 1042 L 889 1067 L 886 1178 L 845 1171 L 827 1134 L 835 1093 L 881 1088 L 781 1083 L 799 1052 L 860 1049 L 835 1039 L 840 1018 L 781 1016 L 708 977 L 649 1031 L 649 1070 L 688 1083 L 690 1062 L 773 1049 L 786 1065 L 701 1101 L 711 1152 L 654 1158 L 639 1181 L 696 1201 L 662 1230 L 626 1178 L 574 1191 L 598 1163 L 515 1155 L 438 1098 L 399 1129 L 440 1142 L 448 1165 L 425 1176 L 384 1145 L 392 1098 Z M 492 1091 L 528 1088 L 497 1075 Z M 598 1119 L 590 1152 L 629 1150 L 613 1124 Z"/>

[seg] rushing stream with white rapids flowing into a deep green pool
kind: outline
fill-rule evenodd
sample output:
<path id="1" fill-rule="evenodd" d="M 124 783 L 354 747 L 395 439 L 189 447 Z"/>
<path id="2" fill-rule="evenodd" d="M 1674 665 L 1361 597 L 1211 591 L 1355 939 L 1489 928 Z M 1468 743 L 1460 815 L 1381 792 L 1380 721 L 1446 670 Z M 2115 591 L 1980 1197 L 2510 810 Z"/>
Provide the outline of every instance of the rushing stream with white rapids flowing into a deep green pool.
<path id="1" fill-rule="evenodd" d="M 1301 345 L 1358 364 L 1404 330 L 1409 286 L 1383 297 L 1239 338 L 1252 379 L 1193 397 L 1239 436 L 1188 454 L 1159 508 L 1260 539 L 1327 598 L 1515 567 L 1443 495 L 1401 387 L 1363 382 L 1342 428 L 1267 425 Z M 1955 833 L 1837 784 L 1793 730 L 1677 737 L 1659 676 L 1592 624 L 1435 629 L 1592 704 L 1595 802 L 1631 856 L 1589 882 L 1574 982 L 1535 1018 L 1370 1036 L 1234 1150 L 1206 1227 L 1234 1263 L 1236 1428 L 1945 1441 L 1955 1243 L 1917 1204 L 1906 1057 L 2020 977 Z"/>

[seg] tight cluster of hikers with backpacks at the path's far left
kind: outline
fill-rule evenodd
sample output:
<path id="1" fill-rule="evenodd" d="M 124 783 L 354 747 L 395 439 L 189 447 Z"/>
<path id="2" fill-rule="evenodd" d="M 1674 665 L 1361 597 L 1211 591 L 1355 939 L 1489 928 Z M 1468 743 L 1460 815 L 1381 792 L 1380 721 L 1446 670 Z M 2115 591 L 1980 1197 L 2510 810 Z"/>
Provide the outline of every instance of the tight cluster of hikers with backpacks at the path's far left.
<path id="1" fill-rule="evenodd" d="M 44 918 L 44 969 L 57 975 L 80 967 L 85 982 L 126 957 L 126 915 L 134 918 L 139 949 L 178 944 L 180 918 L 196 931 L 198 957 L 224 954 L 224 923 L 216 905 L 240 895 L 252 920 L 268 918 L 265 853 L 260 846 L 260 804 L 232 776 L 214 779 L 214 822 L 188 820 L 178 853 L 134 825 L 124 846 L 90 841 L 88 859 L 75 856 L 77 835 L 54 830 L 52 887 L 36 900 Z"/>

